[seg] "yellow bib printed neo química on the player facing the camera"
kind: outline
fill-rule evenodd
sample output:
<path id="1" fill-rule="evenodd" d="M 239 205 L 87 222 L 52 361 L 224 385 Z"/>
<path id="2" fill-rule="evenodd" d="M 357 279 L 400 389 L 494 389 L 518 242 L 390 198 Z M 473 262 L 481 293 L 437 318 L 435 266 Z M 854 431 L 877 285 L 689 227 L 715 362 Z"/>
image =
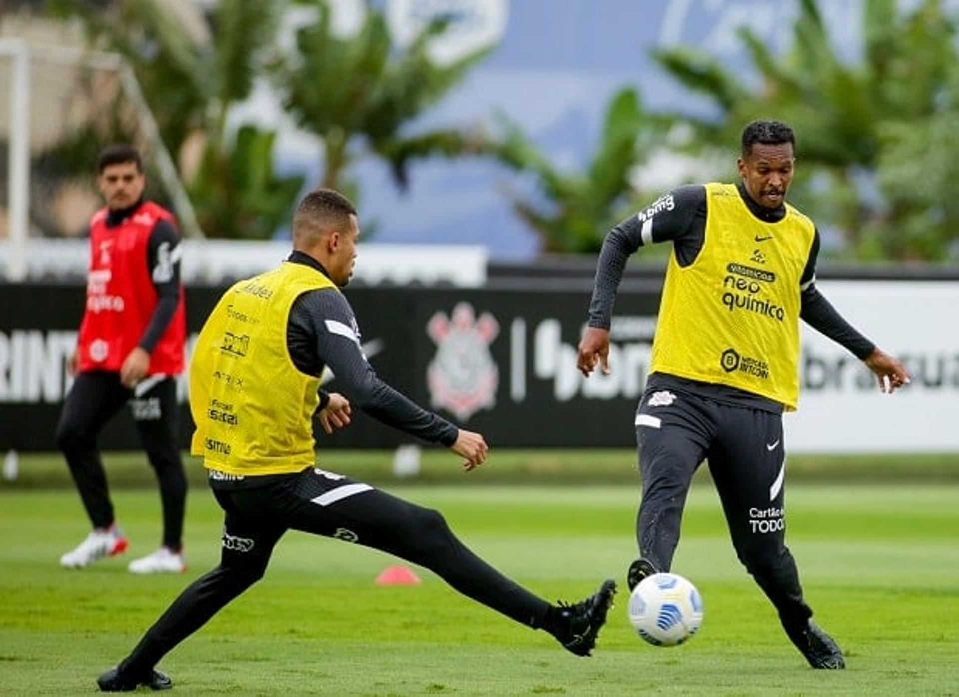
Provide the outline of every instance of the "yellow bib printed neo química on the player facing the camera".
<path id="1" fill-rule="evenodd" d="M 703 248 L 670 255 L 650 372 L 727 384 L 796 408 L 800 281 L 815 226 L 786 204 L 763 222 L 732 184 L 706 185 Z"/>

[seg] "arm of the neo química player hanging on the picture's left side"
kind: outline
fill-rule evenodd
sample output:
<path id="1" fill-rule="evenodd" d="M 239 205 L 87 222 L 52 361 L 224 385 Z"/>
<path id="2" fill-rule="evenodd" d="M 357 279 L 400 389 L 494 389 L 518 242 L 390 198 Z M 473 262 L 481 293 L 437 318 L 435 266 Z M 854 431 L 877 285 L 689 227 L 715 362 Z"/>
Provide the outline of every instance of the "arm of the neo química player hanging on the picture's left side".
<path id="1" fill-rule="evenodd" d="M 705 229 L 706 188 L 681 186 L 607 233 L 596 263 L 589 321 L 576 359 L 583 375 L 589 376 L 597 362 L 603 373 L 609 372 L 609 328 L 629 257 L 646 244 L 672 242 L 677 261 L 688 266 L 702 248 Z"/>

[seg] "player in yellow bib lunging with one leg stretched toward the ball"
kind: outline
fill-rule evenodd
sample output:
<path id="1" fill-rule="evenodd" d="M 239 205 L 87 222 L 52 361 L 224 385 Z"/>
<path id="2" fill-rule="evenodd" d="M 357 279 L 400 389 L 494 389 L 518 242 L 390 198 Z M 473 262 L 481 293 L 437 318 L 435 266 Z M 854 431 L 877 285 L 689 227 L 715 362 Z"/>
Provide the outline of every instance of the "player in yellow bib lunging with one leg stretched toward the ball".
<path id="1" fill-rule="evenodd" d="M 588 656 L 616 584 L 551 605 L 464 546 L 443 516 L 369 484 L 315 467 L 313 416 L 324 430 L 349 424 L 351 403 L 374 418 L 464 458 L 486 459 L 483 436 L 458 429 L 384 383 L 363 356 L 360 329 L 339 291 L 353 273 L 360 234 L 353 204 L 320 189 L 293 217 L 293 252 L 277 268 L 227 290 L 199 333 L 190 408 L 213 495 L 223 509 L 221 563 L 180 593 L 132 653 L 100 676 L 105 691 L 170 679 L 159 660 L 263 577 L 288 529 L 382 549 L 432 569 L 457 591 Z M 331 369 L 349 397 L 320 392 Z M 322 599 L 317 601 L 321 608 Z"/>

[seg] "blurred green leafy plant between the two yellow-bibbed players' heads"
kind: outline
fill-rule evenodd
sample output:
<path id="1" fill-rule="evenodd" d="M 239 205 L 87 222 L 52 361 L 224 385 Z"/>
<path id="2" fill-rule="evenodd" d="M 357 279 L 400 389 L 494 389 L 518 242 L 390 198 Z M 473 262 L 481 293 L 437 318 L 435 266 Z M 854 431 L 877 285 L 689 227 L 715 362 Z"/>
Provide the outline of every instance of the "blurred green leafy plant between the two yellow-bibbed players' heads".
<path id="1" fill-rule="evenodd" d="M 606 107 L 600 140 L 581 173 L 563 173 L 515 124 L 502 116 L 503 135 L 489 151 L 507 167 L 533 174 L 545 201 L 508 192 L 513 209 L 539 234 L 546 251 L 596 252 L 638 193 L 630 174 L 652 151 L 660 120 L 643 109 L 633 88 Z"/>

